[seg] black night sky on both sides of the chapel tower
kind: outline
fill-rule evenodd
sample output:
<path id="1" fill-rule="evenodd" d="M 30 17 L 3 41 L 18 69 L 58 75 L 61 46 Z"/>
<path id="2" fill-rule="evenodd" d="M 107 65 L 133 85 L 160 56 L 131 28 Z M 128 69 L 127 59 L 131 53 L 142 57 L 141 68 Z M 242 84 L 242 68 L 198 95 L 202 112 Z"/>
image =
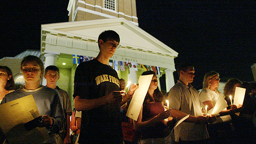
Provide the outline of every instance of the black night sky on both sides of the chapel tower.
<path id="1" fill-rule="evenodd" d="M 1 5 L 0 58 L 25 49 L 40 49 L 40 25 L 68 21 L 69 0 Z M 139 27 L 179 53 L 175 63 L 194 63 L 194 87 L 204 74 L 220 73 L 221 81 L 254 81 L 256 2 L 136 0 Z M 12 40 L 14 40 L 12 42 Z"/>

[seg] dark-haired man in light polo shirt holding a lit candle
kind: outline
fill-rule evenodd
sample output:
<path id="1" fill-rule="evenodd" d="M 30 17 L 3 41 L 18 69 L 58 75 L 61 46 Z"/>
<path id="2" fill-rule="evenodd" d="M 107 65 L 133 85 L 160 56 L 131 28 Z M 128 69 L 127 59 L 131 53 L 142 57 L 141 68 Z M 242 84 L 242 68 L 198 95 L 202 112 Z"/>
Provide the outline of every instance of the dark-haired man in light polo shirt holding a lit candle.
<path id="1" fill-rule="evenodd" d="M 199 94 L 190 84 L 195 77 L 194 66 L 189 62 L 181 63 L 177 72 L 179 80 L 168 93 L 171 117 L 178 120 L 188 114 L 189 117 L 173 128 L 172 144 L 209 144 L 206 123 L 214 121 L 214 117 L 202 114 Z"/>

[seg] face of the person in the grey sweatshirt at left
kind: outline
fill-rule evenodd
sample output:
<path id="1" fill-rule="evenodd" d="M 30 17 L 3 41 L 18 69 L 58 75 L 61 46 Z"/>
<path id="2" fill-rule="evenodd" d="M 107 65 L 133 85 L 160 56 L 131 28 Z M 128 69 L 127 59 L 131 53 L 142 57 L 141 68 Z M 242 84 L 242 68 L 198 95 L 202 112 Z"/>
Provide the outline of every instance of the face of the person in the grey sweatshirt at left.
<path id="1" fill-rule="evenodd" d="M 39 83 L 40 76 L 43 75 L 40 66 L 36 62 L 28 62 L 22 65 L 21 68 L 22 75 L 24 77 L 25 83 Z"/>

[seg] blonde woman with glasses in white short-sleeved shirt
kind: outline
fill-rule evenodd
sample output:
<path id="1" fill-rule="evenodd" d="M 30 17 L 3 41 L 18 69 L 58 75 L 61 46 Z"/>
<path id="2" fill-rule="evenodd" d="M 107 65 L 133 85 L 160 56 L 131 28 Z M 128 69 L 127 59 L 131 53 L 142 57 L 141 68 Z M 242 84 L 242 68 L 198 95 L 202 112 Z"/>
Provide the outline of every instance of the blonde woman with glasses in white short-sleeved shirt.
<path id="1" fill-rule="evenodd" d="M 207 111 L 212 109 L 216 104 L 220 92 L 219 87 L 219 74 L 217 72 L 208 72 L 204 75 L 203 90 L 200 93 L 200 102 L 202 107 L 206 107 Z M 224 98 L 224 97 L 223 97 Z M 231 109 L 223 109 L 217 116 L 213 124 L 207 125 L 207 130 L 210 136 L 210 142 L 214 144 L 229 143 L 232 138 L 232 123 L 230 114 L 237 112 L 242 105 L 231 105 Z"/>

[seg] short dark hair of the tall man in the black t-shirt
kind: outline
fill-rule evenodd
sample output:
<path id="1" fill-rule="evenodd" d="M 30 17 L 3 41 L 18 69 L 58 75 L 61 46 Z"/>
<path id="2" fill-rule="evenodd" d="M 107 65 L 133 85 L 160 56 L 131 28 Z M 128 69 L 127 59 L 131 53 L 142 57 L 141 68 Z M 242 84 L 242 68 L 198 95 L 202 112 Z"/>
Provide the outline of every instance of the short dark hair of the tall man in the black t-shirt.
<path id="1" fill-rule="evenodd" d="M 110 40 L 110 41 L 116 41 L 116 42 L 120 42 L 120 37 L 118 35 L 118 33 L 116 33 L 114 30 L 105 30 L 103 31 L 102 33 L 100 33 L 99 35 L 99 38 L 98 38 L 98 46 L 99 46 L 99 49 L 100 49 L 100 39 L 103 40 L 103 42 L 106 42 L 107 40 Z"/>

